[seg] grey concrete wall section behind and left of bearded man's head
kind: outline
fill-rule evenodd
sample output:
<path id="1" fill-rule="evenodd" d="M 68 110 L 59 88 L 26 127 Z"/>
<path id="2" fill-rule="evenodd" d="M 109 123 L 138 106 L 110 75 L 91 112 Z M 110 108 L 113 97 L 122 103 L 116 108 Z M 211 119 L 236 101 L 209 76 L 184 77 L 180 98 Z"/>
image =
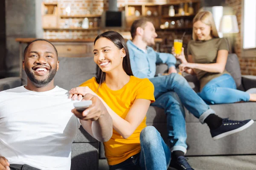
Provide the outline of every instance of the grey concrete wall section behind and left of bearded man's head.
<path id="1" fill-rule="evenodd" d="M 6 76 L 19 76 L 19 44 L 15 38 L 36 37 L 35 0 L 5 0 Z"/>

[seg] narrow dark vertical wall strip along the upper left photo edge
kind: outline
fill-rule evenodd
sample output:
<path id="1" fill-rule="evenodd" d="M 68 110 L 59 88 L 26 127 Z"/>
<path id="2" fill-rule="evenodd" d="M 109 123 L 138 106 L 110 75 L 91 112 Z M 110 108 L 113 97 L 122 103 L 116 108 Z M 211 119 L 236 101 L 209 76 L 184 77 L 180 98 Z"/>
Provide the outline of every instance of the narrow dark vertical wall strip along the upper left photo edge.
<path id="1" fill-rule="evenodd" d="M 6 18 L 5 18 L 5 1 L 0 0 L 0 79 L 6 74 Z"/>

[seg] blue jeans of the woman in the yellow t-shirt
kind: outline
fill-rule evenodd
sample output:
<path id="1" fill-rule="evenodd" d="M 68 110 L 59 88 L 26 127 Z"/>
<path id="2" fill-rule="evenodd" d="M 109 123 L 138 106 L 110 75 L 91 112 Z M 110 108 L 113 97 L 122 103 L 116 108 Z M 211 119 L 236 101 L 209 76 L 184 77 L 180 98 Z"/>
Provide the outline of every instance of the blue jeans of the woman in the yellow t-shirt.
<path id="1" fill-rule="evenodd" d="M 160 133 L 153 126 L 140 133 L 140 153 L 127 160 L 110 165 L 110 170 L 166 170 L 171 161 L 171 152 Z"/>

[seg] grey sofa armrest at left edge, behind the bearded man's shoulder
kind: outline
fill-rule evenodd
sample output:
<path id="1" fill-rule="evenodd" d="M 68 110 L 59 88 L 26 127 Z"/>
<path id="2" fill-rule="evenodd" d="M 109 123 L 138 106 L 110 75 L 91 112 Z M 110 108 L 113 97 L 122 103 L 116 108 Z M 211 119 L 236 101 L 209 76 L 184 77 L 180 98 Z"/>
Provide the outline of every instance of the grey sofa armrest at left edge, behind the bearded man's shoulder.
<path id="1" fill-rule="evenodd" d="M 0 79 L 0 91 L 16 88 L 21 85 L 20 77 L 7 77 Z"/>

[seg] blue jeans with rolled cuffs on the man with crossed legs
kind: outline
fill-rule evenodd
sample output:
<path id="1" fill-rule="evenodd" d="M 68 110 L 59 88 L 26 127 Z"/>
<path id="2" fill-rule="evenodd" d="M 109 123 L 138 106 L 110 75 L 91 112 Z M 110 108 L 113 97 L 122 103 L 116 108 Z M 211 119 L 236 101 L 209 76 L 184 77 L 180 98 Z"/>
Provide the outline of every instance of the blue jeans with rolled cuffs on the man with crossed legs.
<path id="1" fill-rule="evenodd" d="M 195 93 L 186 79 L 179 74 L 169 74 L 149 80 L 154 84 L 154 97 L 156 99 L 151 105 L 163 108 L 167 116 L 171 150 L 180 150 L 186 153 L 187 136 L 183 106 L 201 123 L 204 123 L 204 119 L 209 114 L 215 114 L 215 111 Z"/>

